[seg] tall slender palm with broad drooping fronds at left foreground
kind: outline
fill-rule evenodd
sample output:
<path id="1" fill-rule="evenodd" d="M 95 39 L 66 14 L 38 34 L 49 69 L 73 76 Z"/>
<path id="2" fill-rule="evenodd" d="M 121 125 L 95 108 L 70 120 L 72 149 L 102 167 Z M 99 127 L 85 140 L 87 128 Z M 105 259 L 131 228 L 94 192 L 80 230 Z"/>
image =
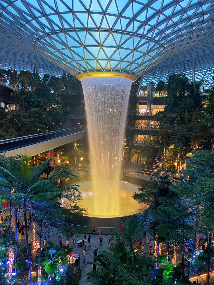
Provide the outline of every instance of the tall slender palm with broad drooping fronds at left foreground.
<path id="1" fill-rule="evenodd" d="M 43 173 L 45 167 L 49 163 L 48 160 L 43 162 L 38 168 L 31 169 L 31 157 L 22 155 L 20 159 L 13 160 L 10 164 L 10 171 L 0 167 L 0 188 L 10 194 L 0 196 L 0 203 L 3 201 L 10 201 L 16 199 L 22 203 L 24 212 L 24 227 L 27 246 L 28 268 L 30 276 L 30 285 L 33 285 L 31 273 L 31 257 L 28 244 L 28 229 L 26 212 L 28 204 L 31 201 L 41 201 L 58 197 L 57 192 L 48 192 L 53 186 L 54 180 L 40 180 L 40 175 Z"/>

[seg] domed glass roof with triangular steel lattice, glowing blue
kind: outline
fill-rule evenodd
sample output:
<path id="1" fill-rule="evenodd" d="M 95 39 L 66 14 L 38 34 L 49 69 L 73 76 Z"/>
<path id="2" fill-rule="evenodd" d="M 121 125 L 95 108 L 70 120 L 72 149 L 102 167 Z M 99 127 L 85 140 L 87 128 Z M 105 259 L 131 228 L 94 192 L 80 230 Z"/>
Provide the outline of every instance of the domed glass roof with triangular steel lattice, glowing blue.
<path id="1" fill-rule="evenodd" d="M 0 0 L 1 68 L 213 76 L 214 1 Z"/>

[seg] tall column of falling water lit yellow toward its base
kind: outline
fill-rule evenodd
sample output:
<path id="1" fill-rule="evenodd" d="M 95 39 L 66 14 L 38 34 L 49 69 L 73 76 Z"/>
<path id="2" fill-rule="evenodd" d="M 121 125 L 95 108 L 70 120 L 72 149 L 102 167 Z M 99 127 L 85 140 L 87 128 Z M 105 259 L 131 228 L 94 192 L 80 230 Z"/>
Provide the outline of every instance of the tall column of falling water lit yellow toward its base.
<path id="1" fill-rule="evenodd" d="M 94 209 L 97 215 L 117 215 L 129 93 L 136 78 L 89 76 L 80 80 L 91 150 Z"/>

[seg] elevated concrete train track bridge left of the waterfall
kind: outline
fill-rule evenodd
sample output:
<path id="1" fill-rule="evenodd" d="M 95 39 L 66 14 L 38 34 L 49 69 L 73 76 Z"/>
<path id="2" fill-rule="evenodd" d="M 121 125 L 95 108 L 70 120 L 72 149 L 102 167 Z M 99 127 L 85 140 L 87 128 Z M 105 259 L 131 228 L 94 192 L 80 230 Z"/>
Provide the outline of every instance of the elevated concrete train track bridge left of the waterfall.
<path id="1" fill-rule="evenodd" d="M 0 141 L 0 154 L 6 157 L 19 155 L 36 155 L 58 146 L 63 146 L 72 141 L 86 136 L 86 128 L 69 128 L 53 132 L 5 139 Z"/>

